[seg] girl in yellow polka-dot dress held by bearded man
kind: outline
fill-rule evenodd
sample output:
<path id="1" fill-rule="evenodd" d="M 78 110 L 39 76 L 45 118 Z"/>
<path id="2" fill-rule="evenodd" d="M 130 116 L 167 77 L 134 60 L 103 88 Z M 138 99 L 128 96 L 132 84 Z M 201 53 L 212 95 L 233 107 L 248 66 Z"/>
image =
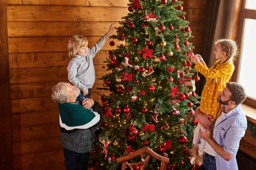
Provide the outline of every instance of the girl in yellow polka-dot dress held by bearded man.
<path id="1" fill-rule="evenodd" d="M 220 113 L 222 106 L 217 101 L 218 93 L 226 87 L 226 83 L 229 81 L 230 77 L 233 74 L 235 66 L 232 61 L 237 53 L 236 42 L 233 40 L 217 40 L 215 42 L 215 58 L 217 61 L 214 63 L 214 66 L 207 68 L 207 65 L 204 62 L 204 59 L 198 54 L 193 57 L 193 62 L 195 62 L 195 68 L 206 77 L 206 83 L 201 95 L 201 105 L 200 111 L 204 114 L 212 116 L 210 121 L 213 121 Z M 204 162 L 204 147 L 206 141 L 201 139 L 201 144 L 197 145 L 200 140 L 199 130 L 206 132 L 208 129 L 204 129 L 200 123 L 195 128 L 194 138 L 192 149 L 190 150 L 191 164 L 197 163 L 202 165 Z M 212 156 L 215 156 L 214 152 Z"/>

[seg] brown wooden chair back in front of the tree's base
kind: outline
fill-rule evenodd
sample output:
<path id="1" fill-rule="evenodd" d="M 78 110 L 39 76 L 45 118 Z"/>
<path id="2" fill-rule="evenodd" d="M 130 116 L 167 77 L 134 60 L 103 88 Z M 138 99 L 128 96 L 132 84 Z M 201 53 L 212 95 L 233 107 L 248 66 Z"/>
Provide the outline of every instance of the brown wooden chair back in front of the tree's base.
<path id="1" fill-rule="evenodd" d="M 141 162 L 137 162 L 137 163 L 133 163 L 133 164 L 130 164 L 127 162 L 129 159 L 133 159 L 134 157 L 136 157 L 144 152 L 148 153 L 148 156 L 146 157 L 144 162 L 141 161 Z M 131 166 L 138 165 L 138 164 L 142 164 L 142 167 L 140 168 L 140 170 L 144 170 L 148 164 L 149 159 L 151 159 L 151 157 L 161 161 L 160 170 L 166 170 L 166 164 L 169 163 L 168 155 L 166 153 L 163 153 L 163 156 L 160 156 L 159 154 L 155 153 L 153 150 L 151 150 L 149 147 L 146 147 L 146 146 L 140 148 L 139 150 L 136 150 L 134 153 L 131 153 L 130 155 L 125 155 L 120 158 L 117 158 L 116 161 L 118 163 L 122 162 L 121 170 L 125 170 L 126 166 L 128 166 L 131 170 L 134 170 Z"/>

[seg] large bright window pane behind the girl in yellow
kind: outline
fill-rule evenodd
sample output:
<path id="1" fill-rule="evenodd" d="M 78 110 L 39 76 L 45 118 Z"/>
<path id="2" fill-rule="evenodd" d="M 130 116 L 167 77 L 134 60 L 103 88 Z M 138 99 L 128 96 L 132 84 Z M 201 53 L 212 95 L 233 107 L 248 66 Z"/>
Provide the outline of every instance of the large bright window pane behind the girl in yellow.
<path id="1" fill-rule="evenodd" d="M 241 60 L 238 83 L 246 91 L 247 96 L 256 99 L 255 90 L 255 40 L 256 20 L 245 19 L 243 45 L 241 47 Z"/>

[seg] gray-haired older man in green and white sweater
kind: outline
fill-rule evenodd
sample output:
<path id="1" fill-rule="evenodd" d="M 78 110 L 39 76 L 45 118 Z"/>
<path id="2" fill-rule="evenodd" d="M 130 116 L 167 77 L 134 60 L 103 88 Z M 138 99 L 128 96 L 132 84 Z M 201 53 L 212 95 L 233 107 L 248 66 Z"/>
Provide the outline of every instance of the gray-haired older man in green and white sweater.
<path id="1" fill-rule="evenodd" d="M 102 123 L 102 111 L 98 102 L 84 99 L 76 101 L 80 90 L 75 85 L 59 82 L 52 88 L 52 99 L 58 102 L 61 126 L 61 144 L 64 147 L 67 170 L 87 170 L 87 164 L 95 141 L 92 128 Z M 93 106 L 93 112 L 89 111 Z"/>

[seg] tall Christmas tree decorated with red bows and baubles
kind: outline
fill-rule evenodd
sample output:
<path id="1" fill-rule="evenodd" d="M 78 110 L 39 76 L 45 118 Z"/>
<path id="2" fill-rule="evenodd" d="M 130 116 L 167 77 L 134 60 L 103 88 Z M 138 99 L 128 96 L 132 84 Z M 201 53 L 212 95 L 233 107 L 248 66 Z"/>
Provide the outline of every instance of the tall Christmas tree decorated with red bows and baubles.
<path id="1" fill-rule="evenodd" d="M 193 117 L 198 96 L 192 81 L 192 43 L 189 22 L 177 0 L 129 0 L 127 16 L 113 39 L 122 41 L 109 51 L 112 72 L 102 77 L 109 96 L 102 95 L 102 134 L 91 151 L 96 169 L 121 169 L 116 158 L 148 146 L 168 154 L 167 170 L 191 170 L 189 149 L 198 121 Z M 111 41 L 110 45 L 115 42 Z M 130 162 L 140 162 L 140 155 Z M 160 162 L 151 159 L 146 169 Z M 140 165 L 134 165 L 135 170 Z"/>

